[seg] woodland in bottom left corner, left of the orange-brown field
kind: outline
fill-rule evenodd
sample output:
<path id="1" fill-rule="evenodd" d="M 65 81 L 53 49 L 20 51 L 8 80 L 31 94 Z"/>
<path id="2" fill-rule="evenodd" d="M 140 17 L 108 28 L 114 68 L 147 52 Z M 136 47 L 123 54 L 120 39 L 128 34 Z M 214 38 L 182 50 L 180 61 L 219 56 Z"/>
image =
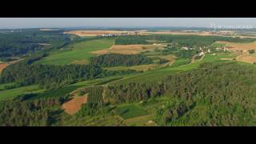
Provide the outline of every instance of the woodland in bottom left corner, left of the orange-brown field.
<path id="1" fill-rule="evenodd" d="M 4 102 L 0 109 L 0 126 L 50 126 L 56 122 L 62 98 L 43 98 L 23 101 L 17 98 Z"/>

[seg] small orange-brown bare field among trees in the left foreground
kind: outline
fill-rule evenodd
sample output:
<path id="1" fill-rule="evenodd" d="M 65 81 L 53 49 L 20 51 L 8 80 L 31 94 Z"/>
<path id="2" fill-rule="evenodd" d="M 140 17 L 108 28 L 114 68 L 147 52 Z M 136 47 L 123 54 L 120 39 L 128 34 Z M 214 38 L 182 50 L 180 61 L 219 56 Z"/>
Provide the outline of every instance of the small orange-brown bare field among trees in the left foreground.
<path id="1" fill-rule="evenodd" d="M 82 104 L 87 102 L 87 96 L 74 97 L 69 102 L 65 102 L 62 105 L 63 110 L 67 114 L 75 114 L 81 110 Z"/>

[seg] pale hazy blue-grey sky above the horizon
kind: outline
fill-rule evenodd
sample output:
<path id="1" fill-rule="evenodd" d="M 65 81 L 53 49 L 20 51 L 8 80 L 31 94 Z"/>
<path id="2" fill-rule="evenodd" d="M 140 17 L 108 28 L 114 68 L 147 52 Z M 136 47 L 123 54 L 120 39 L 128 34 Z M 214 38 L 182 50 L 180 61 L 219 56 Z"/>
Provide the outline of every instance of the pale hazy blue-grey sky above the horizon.
<path id="1" fill-rule="evenodd" d="M 0 18 L 0 29 L 77 26 L 251 26 L 256 18 Z"/>

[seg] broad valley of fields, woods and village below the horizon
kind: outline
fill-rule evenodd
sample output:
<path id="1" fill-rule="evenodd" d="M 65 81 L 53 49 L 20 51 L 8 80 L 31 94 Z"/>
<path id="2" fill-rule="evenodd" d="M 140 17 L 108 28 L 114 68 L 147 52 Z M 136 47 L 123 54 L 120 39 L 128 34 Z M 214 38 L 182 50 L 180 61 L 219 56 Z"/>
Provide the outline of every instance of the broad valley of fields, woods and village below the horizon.
<path id="1" fill-rule="evenodd" d="M 50 37 L 49 31 L 34 33 Z M 38 37 L 49 44 L 33 53 L 8 51 L 2 57 L 18 61 L 0 63 L 1 126 L 256 124 L 254 37 L 222 31 L 53 31 L 57 40 Z"/>

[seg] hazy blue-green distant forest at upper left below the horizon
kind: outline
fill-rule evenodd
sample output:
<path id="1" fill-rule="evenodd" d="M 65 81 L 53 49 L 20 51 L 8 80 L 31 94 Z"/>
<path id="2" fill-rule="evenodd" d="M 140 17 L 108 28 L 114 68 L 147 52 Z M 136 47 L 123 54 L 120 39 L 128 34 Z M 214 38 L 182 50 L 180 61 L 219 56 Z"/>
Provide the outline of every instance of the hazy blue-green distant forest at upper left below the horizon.
<path id="1" fill-rule="evenodd" d="M 62 30 L 24 30 L 22 32 L 0 33 L 0 58 L 4 61 L 8 57 L 62 47 L 70 42 L 72 42 L 70 35 L 63 34 Z"/>

